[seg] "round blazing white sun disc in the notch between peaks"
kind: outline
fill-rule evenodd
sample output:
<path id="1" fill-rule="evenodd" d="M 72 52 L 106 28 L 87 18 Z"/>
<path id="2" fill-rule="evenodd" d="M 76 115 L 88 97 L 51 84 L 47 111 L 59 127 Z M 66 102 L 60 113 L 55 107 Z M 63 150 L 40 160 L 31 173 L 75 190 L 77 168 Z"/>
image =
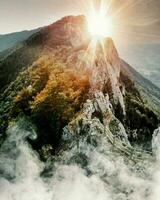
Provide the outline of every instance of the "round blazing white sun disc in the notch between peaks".
<path id="1" fill-rule="evenodd" d="M 103 10 L 92 11 L 87 16 L 88 32 L 92 37 L 104 38 L 112 36 L 112 22 Z"/>

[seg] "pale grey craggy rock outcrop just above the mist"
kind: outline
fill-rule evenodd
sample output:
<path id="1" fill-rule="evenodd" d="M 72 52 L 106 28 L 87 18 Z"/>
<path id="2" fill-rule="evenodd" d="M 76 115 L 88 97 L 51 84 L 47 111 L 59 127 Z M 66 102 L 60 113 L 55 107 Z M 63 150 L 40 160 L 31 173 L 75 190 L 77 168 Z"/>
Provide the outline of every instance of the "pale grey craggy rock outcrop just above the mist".
<path id="1" fill-rule="evenodd" d="M 62 138 L 70 140 L 83 134 L 106 135 L 112 144 L 117 139 L 122 147 L 131 147 L 125 128 L 113 114 L 109 96 L 100 91 L 94 93 L 92 100 L 87 100 L 78 117 L 63 129 Z"/>

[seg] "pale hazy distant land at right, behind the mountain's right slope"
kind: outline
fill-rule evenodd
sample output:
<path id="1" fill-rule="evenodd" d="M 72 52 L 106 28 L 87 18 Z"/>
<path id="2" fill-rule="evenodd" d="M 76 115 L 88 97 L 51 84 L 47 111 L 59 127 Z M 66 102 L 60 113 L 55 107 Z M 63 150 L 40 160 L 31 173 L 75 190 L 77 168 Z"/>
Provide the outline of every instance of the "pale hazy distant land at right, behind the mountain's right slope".
<path id="1" fill-rule="evenodd" d="M 160 44 L 134 44 L 122 47 L 120 56 L 144 77 L 160 87 Z"/>

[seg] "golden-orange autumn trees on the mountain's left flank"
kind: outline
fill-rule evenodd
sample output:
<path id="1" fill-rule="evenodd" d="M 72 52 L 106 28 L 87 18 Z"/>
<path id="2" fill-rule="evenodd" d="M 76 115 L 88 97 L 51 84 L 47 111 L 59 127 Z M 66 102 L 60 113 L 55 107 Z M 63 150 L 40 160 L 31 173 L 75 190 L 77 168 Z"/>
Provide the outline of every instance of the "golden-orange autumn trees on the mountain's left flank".
<path id="1" fill-rule="evenodd" d="M 88 75 L 43 56 L 28 69 L 28 79 L 30 85 L 14 99 L 18 112 L 27 111 L 47 135 L 58 135 L 88 98 Z"/>

